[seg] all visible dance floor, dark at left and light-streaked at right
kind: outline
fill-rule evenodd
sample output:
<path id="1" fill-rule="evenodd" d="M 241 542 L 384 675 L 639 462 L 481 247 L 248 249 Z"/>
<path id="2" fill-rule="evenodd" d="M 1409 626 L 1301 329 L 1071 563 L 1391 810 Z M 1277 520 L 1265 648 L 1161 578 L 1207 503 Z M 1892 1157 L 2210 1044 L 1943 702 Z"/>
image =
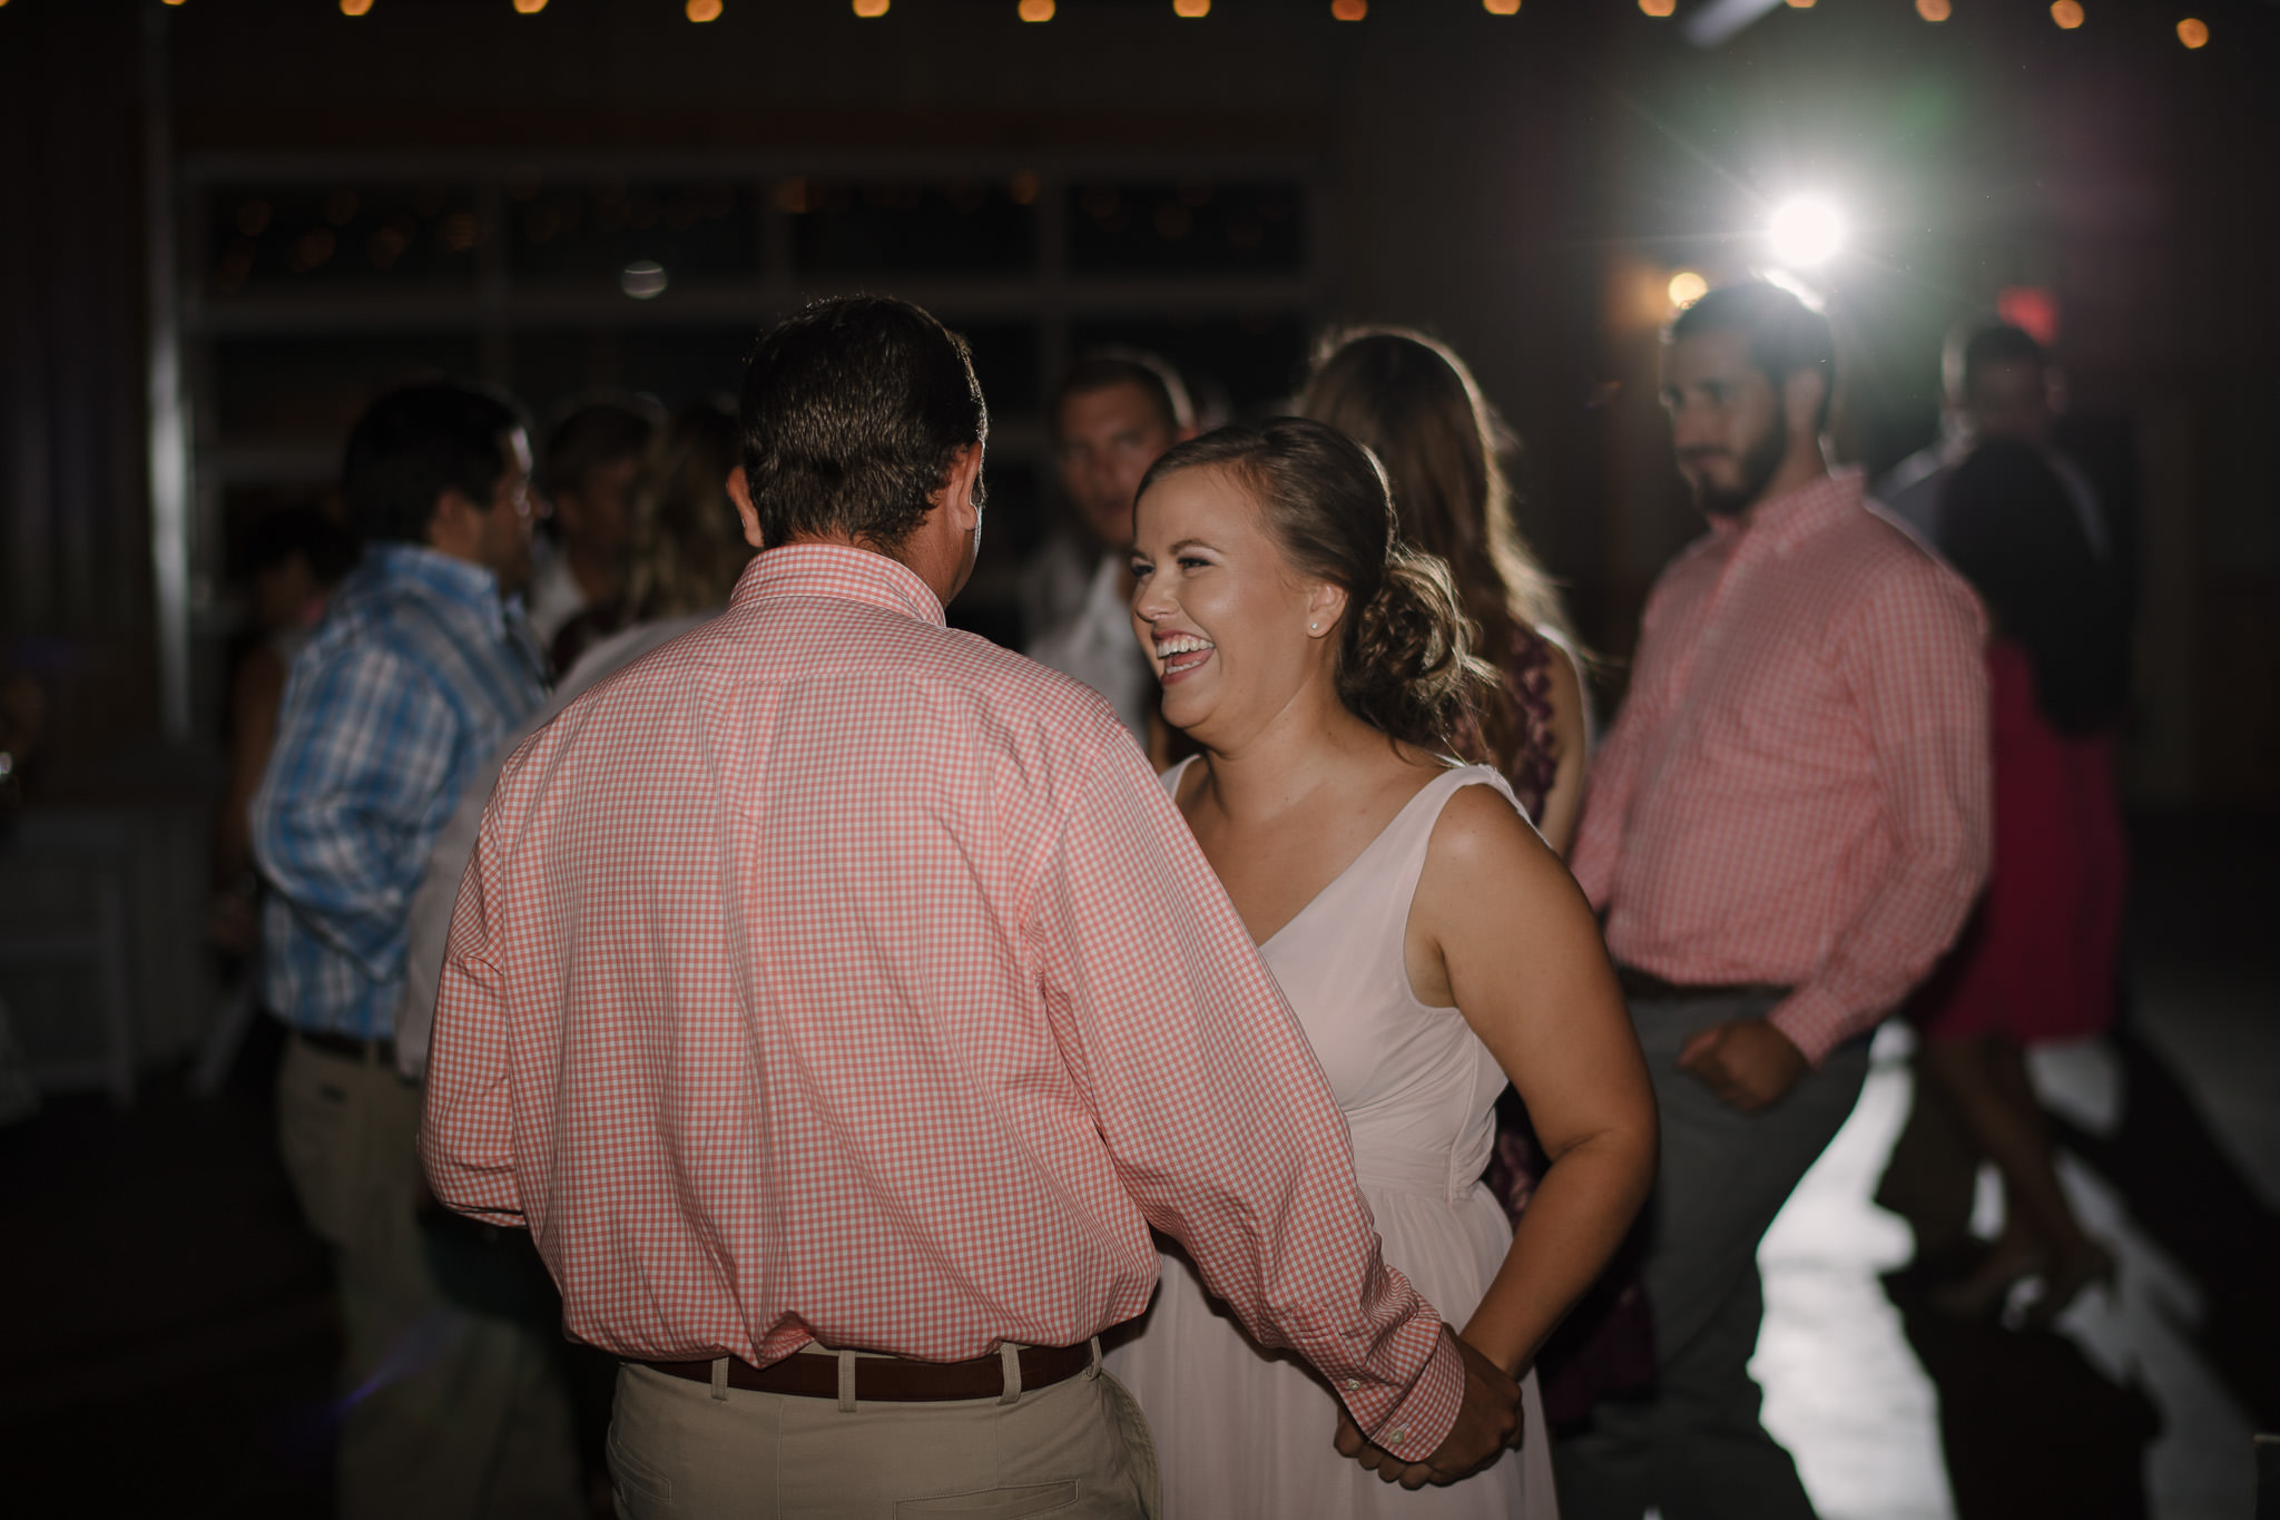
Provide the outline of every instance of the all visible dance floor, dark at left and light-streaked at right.
<path id="1" fill-rule="evenodd" d="M 1765 1420 L 1829 1520 L 2253 1511 L 2248 1433 L 2280 1429 L 2280 825 L 2139 820 L 2136 843 L 2130 1021 L 2036 1060 L 2118 1292 L 2043 1335 L 1922 1306 L 1911 1233 L 1872 1203 L 1908 1108 L 1890 1035 L 1765 1242 Z M 331 1511 L 337 1324 L 271 1151 L 276 1051 L 262 1030 L 217 1101 L 157 1076 L 128 1112 L 62 1098 L 0 1130 L 18 1502 Z"/>

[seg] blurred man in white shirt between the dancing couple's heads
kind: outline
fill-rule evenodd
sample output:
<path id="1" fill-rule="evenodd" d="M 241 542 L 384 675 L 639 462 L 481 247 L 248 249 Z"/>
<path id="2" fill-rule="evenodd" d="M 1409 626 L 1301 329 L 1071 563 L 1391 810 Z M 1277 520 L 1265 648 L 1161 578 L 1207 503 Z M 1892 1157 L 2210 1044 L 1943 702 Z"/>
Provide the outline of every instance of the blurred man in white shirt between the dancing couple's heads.
<path id="1" fill-rule="evenodd" d="M 1133 638 L 1133 497 L 1172 444 L 1195 438 L 1179 371 L 1154 353 L 1088 353 L 1053 392 L 1053 463 L 1069 517 L 1024 570 L 1021 611 L 1040 665 L 1108 697 L 1147 745 L 1156 679 Z"/>

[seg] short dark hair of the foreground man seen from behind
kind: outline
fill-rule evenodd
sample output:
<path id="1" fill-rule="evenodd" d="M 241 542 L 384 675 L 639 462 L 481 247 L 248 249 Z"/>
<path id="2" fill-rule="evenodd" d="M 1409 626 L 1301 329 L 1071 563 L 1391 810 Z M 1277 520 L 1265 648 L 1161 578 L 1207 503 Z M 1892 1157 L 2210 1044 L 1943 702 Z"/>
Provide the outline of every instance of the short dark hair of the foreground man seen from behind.
<path id="1" fill-rule="evenodd" d="M 816 301 L 762 333 L 741 424 L 768 549 L 848 536 L 894 551 L 958 451 L 990 440 L 967 340 L 894 296 Z"/>

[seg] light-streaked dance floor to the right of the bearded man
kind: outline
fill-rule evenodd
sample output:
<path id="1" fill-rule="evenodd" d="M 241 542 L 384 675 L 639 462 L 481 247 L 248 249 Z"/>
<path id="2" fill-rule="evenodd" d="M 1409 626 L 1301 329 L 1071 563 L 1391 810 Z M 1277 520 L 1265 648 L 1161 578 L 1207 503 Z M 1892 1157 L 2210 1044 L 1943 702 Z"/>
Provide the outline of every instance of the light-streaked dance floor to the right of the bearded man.
<path id="1" fill-rule="evenodd" d="M 2253 1411 L 2280 1427 L 2275 839 L 2136 834 L 2127 1028 L 2031 1062 L 2061 1180 L 2120 1258 L 2116 1292 L 2093 1288 L 2045 1335 L 1922 1306 L 1899 1272 L 1911 1233 L 1872 1203 L 1911 1101 L 1892 1028 L 1765 1240 L 1765 1424 L 1826 1520 L 2255 1511 Z M 1974 1228 L 1993 1233 L 1997 1199 L 1984 1176 Z"/>

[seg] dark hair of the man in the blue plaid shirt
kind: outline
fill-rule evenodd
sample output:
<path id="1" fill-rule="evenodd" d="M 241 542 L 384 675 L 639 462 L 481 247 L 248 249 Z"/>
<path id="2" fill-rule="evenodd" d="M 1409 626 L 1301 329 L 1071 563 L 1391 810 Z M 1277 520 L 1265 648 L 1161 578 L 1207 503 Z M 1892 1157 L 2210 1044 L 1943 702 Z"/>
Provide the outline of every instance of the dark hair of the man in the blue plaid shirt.
<path id="1" fill-rule="evenodd" d="M 474 385 L 408 385 L 356 419 L 340 469 L 358 538 L 424 542 L 442 492 L 477 506 L 506 474 L 504 435 L 524 426 L 508 401 Z"/>

